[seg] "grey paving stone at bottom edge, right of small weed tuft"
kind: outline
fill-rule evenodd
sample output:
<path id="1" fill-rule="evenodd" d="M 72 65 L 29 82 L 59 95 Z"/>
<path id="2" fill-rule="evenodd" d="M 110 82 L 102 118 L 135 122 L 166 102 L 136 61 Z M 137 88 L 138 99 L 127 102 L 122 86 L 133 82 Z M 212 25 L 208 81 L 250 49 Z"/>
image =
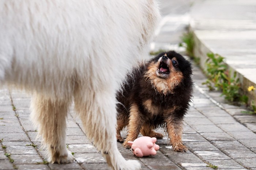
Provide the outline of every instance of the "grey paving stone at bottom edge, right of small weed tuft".
<path id="1" fill-rule="evenodd" d="M 209 162 L 212 165 L 217 165 L 218 169 L 243 169 L 244 168 L 233 159 L 210 160 Z"/>

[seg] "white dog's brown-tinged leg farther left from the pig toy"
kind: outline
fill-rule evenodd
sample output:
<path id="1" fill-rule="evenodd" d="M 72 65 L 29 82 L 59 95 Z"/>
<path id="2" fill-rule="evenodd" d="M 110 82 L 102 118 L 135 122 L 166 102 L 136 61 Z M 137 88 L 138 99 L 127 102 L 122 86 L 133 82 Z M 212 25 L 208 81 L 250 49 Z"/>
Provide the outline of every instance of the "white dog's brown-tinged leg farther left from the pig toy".
<path id="1" fill-rule="evenodd" d="M 33 123 L 42 137 L 50 163 L 70 163 L 74 157 L 66 147 L 66 118 L 70 101 L 34 95 L 31 102 Z"/>

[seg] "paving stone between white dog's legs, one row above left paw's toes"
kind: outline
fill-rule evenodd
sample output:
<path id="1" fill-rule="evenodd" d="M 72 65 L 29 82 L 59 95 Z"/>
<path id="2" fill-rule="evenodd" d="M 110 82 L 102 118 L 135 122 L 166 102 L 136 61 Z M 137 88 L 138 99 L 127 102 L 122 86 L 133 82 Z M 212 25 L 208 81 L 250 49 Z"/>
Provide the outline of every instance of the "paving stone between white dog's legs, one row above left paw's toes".
<path id="1" fill-rule="evenodd" d="M 71 144 L 68 149 L 74 153 L 97 153 L 97 149 L 90 144 Z"/>

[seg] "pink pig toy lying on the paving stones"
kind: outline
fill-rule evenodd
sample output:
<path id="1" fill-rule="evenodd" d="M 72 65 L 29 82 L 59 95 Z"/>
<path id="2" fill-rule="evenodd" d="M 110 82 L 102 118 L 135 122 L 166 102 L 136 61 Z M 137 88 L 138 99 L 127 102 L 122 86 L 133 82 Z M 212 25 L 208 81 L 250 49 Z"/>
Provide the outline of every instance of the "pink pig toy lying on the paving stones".
<path id="1" fill-rule="evenodd" d="M 157 154 L 159 146 L 155 142 L 157 142 L 157 138 L 139 137 L 133 142 L 128 141 L 128 144 L 131 146 L 133 154 L 136 157 L 146 157 Z"/>

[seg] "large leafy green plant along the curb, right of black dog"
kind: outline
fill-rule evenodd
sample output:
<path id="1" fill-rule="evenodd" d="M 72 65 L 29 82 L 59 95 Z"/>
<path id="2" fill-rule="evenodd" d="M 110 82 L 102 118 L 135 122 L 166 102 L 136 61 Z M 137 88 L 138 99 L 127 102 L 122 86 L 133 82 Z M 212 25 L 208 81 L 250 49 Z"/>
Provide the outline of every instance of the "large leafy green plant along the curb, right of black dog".
<path id="1" fill-rule="evenodd" d="M 209 90 L 221 90 L 222 95 L 225 95 L 225 99 L 231 102 L 248 101 L 246 96 L 239 94 L 240 82 L 237 78 L 237 73 L 232 75 L 227 70 L 227 65 L 224 62 L 224 58 L 218 54 L 208 53 L 206 60 L 206 70 L 208 79 L 203 84 L 206 84 Z"/>

